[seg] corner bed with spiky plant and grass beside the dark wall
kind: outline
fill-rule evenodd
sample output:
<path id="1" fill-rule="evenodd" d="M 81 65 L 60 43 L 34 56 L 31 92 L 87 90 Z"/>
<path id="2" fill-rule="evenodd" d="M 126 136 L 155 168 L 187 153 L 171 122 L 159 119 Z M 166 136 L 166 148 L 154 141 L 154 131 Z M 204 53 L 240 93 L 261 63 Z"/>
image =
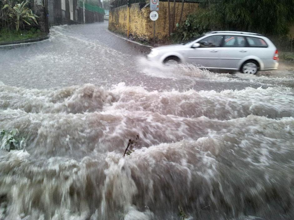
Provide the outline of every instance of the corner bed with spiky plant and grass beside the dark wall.
<path id="1" fill-rule="evenodd" d="M 42 37 L 28 0 L 0 1 L 0 44 Z"/>

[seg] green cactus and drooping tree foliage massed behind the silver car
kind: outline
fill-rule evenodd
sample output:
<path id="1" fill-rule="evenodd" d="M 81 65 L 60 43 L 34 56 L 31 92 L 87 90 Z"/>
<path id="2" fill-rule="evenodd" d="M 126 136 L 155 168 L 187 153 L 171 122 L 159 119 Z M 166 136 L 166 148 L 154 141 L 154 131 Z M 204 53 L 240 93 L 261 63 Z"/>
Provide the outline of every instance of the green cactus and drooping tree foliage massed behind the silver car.
<path id="1" fill-rule="evenodd" d="M 289 49 L 293 5 L 294 0 L 201 0 L 199 10 L 176 24 L 171 39 L 178 43 L 208 31 L 246 31 L 269 36 L 281 49 Z"/>

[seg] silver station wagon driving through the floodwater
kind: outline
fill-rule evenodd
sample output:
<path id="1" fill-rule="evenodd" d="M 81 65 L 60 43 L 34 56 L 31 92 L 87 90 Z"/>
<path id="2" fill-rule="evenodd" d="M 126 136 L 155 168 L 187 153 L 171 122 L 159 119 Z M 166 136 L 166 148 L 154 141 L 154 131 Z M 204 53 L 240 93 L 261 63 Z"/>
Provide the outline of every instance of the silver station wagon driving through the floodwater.
<path id="1" fill-rule="evenodd" d="M 276 46 L 267 37 L 248 32 L 207 32 L 185 45 L 154 48 L 147 57 L 162 63 L 191 63 L 205 69 L 247 74 L 279 66 Z"/>

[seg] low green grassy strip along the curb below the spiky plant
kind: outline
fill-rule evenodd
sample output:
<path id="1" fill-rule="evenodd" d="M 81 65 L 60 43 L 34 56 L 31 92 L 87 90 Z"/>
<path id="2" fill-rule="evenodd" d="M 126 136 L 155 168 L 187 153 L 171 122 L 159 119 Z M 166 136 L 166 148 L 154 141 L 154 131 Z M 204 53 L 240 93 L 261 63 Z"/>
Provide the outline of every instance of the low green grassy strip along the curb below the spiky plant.
<path id="1" fill-rule="evenodd" d="M 8 28 L 3 28 L 0 30 L 0 44 L 16 42 L 28 39 L 35 39 L 39 37 L 46 36 L 46 33 L 41 32 L 38 29 L 31 28 L 30 30 L 10 30 Z"/>

